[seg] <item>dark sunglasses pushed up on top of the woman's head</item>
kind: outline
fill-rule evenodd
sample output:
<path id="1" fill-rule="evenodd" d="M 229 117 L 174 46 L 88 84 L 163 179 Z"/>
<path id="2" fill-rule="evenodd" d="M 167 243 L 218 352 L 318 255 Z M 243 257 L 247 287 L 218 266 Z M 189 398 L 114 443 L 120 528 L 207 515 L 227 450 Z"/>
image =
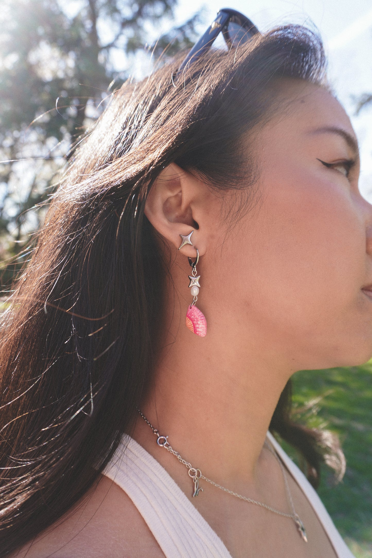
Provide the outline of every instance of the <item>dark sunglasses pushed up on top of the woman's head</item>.
<path id="1" fill-rule="evenodd" d="M 195 43 L 185 60 L 183 60 L 180 68 L 178 68 L 176 78 L 182 74 L 186 66 L 193 64 L 210 49 L 219 33 L 223 34 L 228 49 L 231 49 L 248 41 L 259 31 L 248 17 L 243 16 L 240 12 L 236 12 L 235 9 L 220 9 L 216 19 L 207 28 L 204 35 L 200 37 L 199 41 Z"/>

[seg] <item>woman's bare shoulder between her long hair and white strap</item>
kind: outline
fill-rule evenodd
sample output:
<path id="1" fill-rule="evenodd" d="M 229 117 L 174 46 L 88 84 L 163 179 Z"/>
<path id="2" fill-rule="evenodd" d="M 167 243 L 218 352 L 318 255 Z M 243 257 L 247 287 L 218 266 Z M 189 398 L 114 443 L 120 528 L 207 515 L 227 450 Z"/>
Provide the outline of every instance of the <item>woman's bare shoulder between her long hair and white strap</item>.
<path id="1" fill-rule="evenodd" d="M 98 485 L 33 542 L 11 558 L 164 558 L 131 499 L 102 476 Z"/>

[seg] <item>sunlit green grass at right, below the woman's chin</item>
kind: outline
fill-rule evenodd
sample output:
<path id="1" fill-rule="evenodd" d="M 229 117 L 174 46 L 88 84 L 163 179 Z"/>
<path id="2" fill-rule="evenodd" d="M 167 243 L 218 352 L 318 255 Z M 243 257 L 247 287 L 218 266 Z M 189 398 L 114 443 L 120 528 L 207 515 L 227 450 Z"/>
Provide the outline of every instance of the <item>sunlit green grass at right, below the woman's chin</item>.
<path id="1" fill-rule="evenodd" d="M 294 403 L 317 400 L 312 426 L 339 434 L 347 468 L 339 484 L 325 467 L 318 494 L 357 558 L 372 558 L 372 361 L 294 374 Z M 287 448 L 286 448 L 287 449 Z"/>

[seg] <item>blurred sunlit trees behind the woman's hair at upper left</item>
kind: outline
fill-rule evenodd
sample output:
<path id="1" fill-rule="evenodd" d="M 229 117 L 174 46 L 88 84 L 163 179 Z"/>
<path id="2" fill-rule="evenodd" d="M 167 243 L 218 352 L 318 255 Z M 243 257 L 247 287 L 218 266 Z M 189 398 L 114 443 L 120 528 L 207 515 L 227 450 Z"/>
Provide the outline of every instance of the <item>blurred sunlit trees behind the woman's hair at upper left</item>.
<path id="1" fill-rule="evenodd" d="M 171 26 L 176 4 L 177 0 L 2 0 L 3 294 L 27 259 L 22 249 L 44 218 L 43 202 L 58 181 L 71 145 L 102 112 L 110 92 L 141 65 L 141 55 L 149 68 L 150 51 L 156 60 L 171 41 L 163 53 L 166 59 L 193 44 L 200 12 L 155 42 L 161 23 Z M 124 62 L 120 73 L 118 60 L 119 65 Z"/>

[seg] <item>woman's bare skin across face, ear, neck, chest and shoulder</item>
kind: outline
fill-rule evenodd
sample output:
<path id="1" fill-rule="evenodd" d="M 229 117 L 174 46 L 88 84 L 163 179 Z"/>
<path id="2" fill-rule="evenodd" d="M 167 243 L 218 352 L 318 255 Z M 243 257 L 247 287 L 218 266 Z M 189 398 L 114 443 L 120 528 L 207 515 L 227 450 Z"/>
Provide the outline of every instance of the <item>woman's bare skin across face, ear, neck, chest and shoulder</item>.
<path id="1" fill-rule="evenodd" d="M 295 80 L 283 81 L 278 94 L 284 100 L 281 112 L 242 138 L 257 158 L 258 195 L 233 227 L 223 217 L 230 194 L 222 200 L 175 164 L 162 172 L 149 195 L 146 215 L 170 247 L 174 288 L 165 285 L 157 366 L 141 407 L 204 475 L 289 511 L 281 469 L 263 448 L 265 435 L 294 372 L 360 364 L 372 355 L 372 206 L 357 187 L 355 134 L 337 100 L 326 89 Z M 191 230 L 193 246 L 178 251 L 180 234 Z M 192 300 L 187 256 L 195 258 L 195 248 L 205 338 L 185 326 Z M 335 557 L 289 474 L 307 545 L 291 519 L 211 485 L 204 483 L 204 492 L 193 499 L 186 468 L 157 446 L 141 417 L 134 438 L 171 474 L 234 558 Z M 106 512 L 99 521 L 96 509 L 94 532 L 104 541 L 116 529 L 118 546 L 109 555 L 162 556 L 132 502 L 113 486 L 103 477 L 85 508 L 94 515 L 102 494 Z M 133 518 L 134 536 L 125 541 L 117 527 L 119 511 Z M 67 523 L 59 527 L 59 545 L 73 536 L 75 542 L 66 542 L 55 556 L 75 556 L 78 543 L 85 549 L 81 557 L 104 555 L 86 529 L 76 534 Z M 27 556 L 47 556 L 54 544 L 51 532 Z M 119 554 L 124 547 L 127 554 Z"/>

